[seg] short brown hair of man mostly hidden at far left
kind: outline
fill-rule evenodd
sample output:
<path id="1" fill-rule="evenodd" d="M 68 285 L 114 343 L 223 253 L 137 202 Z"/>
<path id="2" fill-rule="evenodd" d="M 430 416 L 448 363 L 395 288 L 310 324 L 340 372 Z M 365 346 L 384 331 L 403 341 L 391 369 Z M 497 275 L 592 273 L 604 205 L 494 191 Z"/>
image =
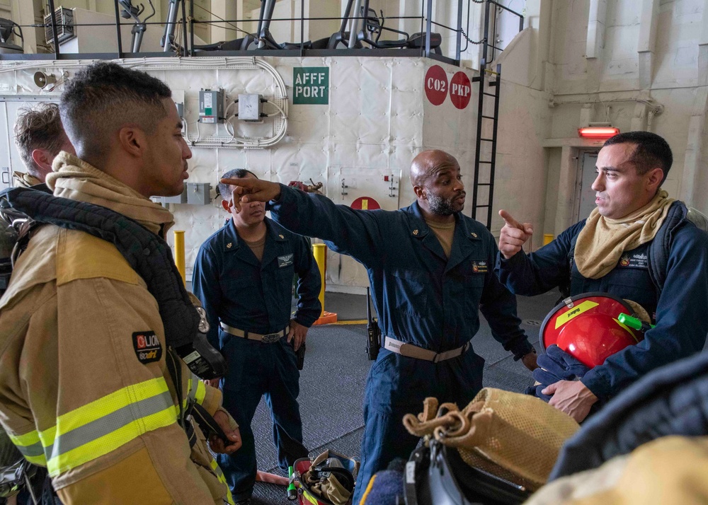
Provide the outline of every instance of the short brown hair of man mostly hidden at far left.
<path id="1" fill-rule="evenodd" d="M 21 108 L 15 122 L 15 145 L 30 175 L 38 175 L 40 168 L 32 159 L 32 151 L 46 149 L 57 156 L 67 139 L 59 116 L 59 105 L 43 102 L 33 108 Z"/>

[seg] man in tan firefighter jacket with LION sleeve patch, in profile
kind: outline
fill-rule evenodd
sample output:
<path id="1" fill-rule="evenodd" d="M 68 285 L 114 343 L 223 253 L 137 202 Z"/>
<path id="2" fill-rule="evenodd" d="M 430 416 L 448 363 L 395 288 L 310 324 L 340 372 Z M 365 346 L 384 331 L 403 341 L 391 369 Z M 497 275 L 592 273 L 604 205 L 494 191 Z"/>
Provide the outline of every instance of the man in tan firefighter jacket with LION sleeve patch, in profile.
<path id="1" fill-rule="evenodd" d="M 98 63 L 76 73 L 60 103 L 76 156 L 60 153 L 47 185 L 57 197 L 108 207 L 164 236 L 191 153 L 169 88 Z M 232 503 L 205 439 L 190 448 L 178 395 L 199 403 L 229 440 L 239 430 L 221 393 L 182 361 L 166 367 L 155 298 L 112 243 L 40 226 L 0 299 L 0 422 L 31 463 L 46 465 L 64 504 Z"/>

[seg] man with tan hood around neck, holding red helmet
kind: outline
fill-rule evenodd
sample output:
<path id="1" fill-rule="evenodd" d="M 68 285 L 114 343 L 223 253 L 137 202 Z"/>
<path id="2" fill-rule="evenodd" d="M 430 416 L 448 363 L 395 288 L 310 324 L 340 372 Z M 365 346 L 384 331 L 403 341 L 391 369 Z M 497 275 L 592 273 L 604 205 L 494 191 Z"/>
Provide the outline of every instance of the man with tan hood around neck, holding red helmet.
<path id="1" fill-rule="evenodd" d="M 542 294 L 567 286 L 569 294 L 607 293 L 639 303 L 656 327 L 644 339 L 608 357 L 580 381 L 543 389 L 550 405 L 581 422 L 598 400 L 617 395 L 649 371 L 700 352 L 708 313 L 708 233 L 695 226 L 685 204 L 661 184 L 673 162 L 666 141 L 649 132 L 607 140 L 598 154 L 594 209 L 588 219 L 527 255 L 533 233 L 506 211 L 496 272 L 515 294 Z M 539 360 L 539 364 L 540 364 Z"/>

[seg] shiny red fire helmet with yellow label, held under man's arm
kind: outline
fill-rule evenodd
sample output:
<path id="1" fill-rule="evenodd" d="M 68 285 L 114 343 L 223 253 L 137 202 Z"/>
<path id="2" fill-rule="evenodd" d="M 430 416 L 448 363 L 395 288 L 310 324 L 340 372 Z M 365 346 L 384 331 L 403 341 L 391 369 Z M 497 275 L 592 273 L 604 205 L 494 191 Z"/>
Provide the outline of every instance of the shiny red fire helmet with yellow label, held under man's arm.
<path id="1" fill-rule="evenodd" d="M 644 334 L 619 322 L 619 314 L 632 315 L 632 308 L 607 293 L 583 293 L 566 298 L 541 325 L 541 347 L 556 344 L 592 368 L 605 363 L 625 347 L 644 339 Z"/>

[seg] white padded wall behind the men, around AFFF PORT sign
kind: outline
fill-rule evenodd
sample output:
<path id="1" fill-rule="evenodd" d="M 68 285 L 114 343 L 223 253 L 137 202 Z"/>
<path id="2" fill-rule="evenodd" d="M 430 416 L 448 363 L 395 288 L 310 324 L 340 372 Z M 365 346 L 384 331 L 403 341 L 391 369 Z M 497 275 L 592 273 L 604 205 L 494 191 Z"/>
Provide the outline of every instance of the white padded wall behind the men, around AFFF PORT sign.
<path id="1" fill-rule="evenodd" d="M 38 62 L 12 68 L 0 62 L 0 86 L 7 83 L 14 99 L 47 96 L 30 84 L 34 71 L 56 74 L 68 71 L 71 76 L 79 66 L 88 63 Z M 260 93 L 285 104 L 287 130 L 275 146 L 268 149 L 191 146 L 188 182 L 210 183 L 212 196 L 216 195 L 222 173 L 232 168 L 248 168 L 258 177 L 286 185 L 291 180 L 309 182 L 311 178 L 323 182 L 324 192 L 337 203 L 350 205 L 356 197 L 365 196 L 375 199 L 382 208 L 393 210 L 413 202 L 415 197 L 409 182 L 411 160 L 423 149 L 432 148 L 445 149 L 457 156 L 465 182 L 472 183 L 476 98 L 472 98 L 467 108 L 458 110 L 449 98 L 440 106 L 431 105 L 424 91 L 424 77 L 430 66 L 442 66 L 447 79 L 460 71 L 458 67 L 429 59 L 390 57 L 157 58 L 126 59 L 120 63 L 164 80 L 177 96 L 184 97 L 190 138 L 197 134 L 198 93 L 202 88 L 222 88 L 232 99 L 239 93 Z M 294 69 L 300 67 L 329 69 L 329 103 L 292 103 Z M 472 79 L 472 71 L 466 72 Z M 58 88 L 51 98 L 57 100 L 61 91 Z M 266 112 L 274 110 L 270 104 L 264 105 Z M 231 112 L 234 111 L 232 108 Z M 274 132 L 272 119 L 265 118 L 263 124 L 234 120 L 234 132 L 237 137 L 268 137 Z M 8 122 L 13 121 L 14 117 L 8 117 Z M 227 129 L 224 124 L 199 124 L 199 134 L 225 137 Z M 348 195 L 341 194 L 342 179 L 353 183 Z M 173 229 L 186 231 L 185 262 L 189 278 L 198 248 L 224 224 L 228 215 L 222 210 L 219 197 L 205 206 L 177 204 L 170 209 L 176 219 Z M 469 214 L 469 209 L 465 214 Z M 340 267 L 338 255 L 330 256 L 327 281 L 331 286 L 340 284 L 348 290 L 366 286 L 365 272 L 358 263 L 345 257 Z"/>

